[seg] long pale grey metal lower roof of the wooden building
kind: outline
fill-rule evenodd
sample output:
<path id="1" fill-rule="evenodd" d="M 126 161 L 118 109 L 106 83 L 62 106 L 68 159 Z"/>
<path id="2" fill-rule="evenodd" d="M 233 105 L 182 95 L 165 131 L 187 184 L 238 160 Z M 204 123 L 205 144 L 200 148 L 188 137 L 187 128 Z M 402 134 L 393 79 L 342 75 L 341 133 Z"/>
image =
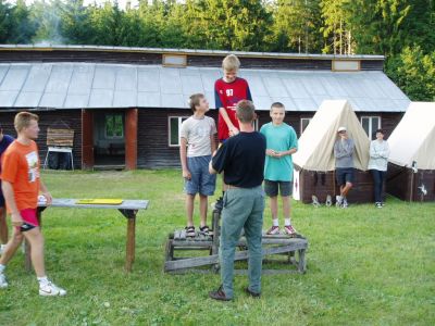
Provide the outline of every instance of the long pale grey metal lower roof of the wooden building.
<path id="1" fill-rule="evenodd" d="M 324 100 L 349 100 L 355 111 L 405 112 L 410 100 L 382 72 L 240 70 L 253 102 L 316 111 Z M 187 108 L 194 92 L 214 106 L 220 68 L 96 63 L 0 64 L 0 108 Z"/>

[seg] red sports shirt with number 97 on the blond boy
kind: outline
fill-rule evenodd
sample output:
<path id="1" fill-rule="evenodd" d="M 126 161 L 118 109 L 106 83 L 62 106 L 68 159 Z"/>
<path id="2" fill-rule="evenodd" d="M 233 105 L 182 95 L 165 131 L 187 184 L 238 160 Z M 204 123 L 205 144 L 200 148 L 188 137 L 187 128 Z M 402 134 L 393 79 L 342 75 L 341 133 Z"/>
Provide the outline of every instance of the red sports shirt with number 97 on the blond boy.
<path id="1" fill-rule="evenodd" d="M 248 82 L 239 77 L 232 83 L 226 83 L 223 78 L 217 79 L 214 83 L 214 100 L 216 109 L 224 108 L 233 125 L 236 128 L 239 128 L 238 121 L 236 118 L 236 104 L 241 100 L 252 101 Z M 219 140 L 225 140 L 229 138 L 228 126 L 221 114 L 219 115 L 217 121 L 217 137 Z"/>

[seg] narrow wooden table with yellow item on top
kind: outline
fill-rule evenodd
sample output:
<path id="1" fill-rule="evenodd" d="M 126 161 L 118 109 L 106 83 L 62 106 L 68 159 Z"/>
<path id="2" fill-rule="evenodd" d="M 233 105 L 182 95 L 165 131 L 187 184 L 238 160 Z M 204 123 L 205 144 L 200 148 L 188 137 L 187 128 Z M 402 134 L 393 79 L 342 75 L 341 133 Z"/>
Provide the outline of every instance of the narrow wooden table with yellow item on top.
<path id="1" fill-rule="evenodd" d="M 37 217 L 41 224 L 42 212 L 47 208 L 67 208 L 67 209 L 105 209 L 105 210 L 117 210 L 121 214 L 127 218 L 127 240 L 126 240 L 126 256 L 125 256 L 125 269 L 132 272 L 132 266 L 135 261 L 135 248 L 136 248 L 136 215 L 139 210 L 146 210 L 148 208 L 148 200 L 123 200 L 121 204 L 79 204 L 77 199 L 70 198 L 55 198 L 51 205 L 46 203 L 38 203 Z M 26 244 L 26 269 L 29 271 L 32 267 L 30 251 L 28 244 Z"/>

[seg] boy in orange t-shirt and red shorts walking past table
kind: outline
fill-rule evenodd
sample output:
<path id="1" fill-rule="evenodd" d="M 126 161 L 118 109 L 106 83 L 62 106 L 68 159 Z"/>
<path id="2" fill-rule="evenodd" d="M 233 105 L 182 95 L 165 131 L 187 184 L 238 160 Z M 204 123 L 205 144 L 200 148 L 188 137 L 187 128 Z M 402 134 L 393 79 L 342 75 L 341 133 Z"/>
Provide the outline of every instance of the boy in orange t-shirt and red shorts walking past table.
<path id="1" fill-rule="evenodd" d="M 2 190 L 8 212 L 11 214 L 14 236 L 9 240 L 0 258 L 0 288 L 8 287 L 4 268 L 20 247 L 23 235 L 30 244 L 32 263 L 39 281 L 40 296 L 64 296 L 46 276 L 44 264 L 44 237 L 37 218 L 39 190 L 50 204 L 52 197 L 39 176 L 39 156 L 35 139 L 38 138 L 38 116 L 29 112 L 15 115 L 14 126 L 18 134 L 2 158 Z"/>

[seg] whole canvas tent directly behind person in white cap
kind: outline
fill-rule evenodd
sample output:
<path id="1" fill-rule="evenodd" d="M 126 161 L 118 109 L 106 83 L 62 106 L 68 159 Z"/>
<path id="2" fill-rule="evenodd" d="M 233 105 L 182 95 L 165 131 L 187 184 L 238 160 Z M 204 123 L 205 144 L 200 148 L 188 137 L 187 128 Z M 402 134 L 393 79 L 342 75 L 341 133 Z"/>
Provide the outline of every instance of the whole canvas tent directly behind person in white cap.
<path id="1" fill-rule="evenodd" d="M 311 202 L 315 195 L 320 201 L 326 196 L 338 195 L 335 181 L 334 143 L 337 129 L 345 126 L 355 141 L 353 163 L 356 167 L 355 189 L 349 193 L 350 202 L 372 200 L 373 183 L 366 172 L 370 140 L 351 105 L 346 100 L 323 101 L 299 139 L 298 152 L 294 154 L 294 196 Z"/>

